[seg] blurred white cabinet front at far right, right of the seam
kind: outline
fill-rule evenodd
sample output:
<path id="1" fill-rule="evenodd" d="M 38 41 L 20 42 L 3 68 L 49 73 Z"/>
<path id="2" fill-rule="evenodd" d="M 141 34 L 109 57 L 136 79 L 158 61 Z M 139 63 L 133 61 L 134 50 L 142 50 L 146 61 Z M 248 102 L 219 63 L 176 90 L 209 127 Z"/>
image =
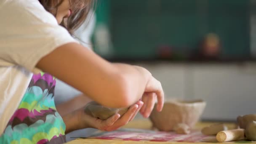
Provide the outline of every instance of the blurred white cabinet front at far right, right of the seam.
<path id="1" fill-rule="evenodd" d="M 236 120 L 256 113 L 256 71 L 250 69 L 235 64 L 192 67 L 194 97 L 208 102 L 203 118 Z"/>

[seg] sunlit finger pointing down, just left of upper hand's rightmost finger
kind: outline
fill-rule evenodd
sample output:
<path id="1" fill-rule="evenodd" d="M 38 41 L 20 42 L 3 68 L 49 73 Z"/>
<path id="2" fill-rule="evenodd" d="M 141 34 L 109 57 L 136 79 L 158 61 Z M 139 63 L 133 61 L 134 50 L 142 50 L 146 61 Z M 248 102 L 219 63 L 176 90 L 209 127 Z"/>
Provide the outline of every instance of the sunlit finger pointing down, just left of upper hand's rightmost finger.
<path id="1" fill-rule="evenodd" d="M 155 93 L 148 93 L 147 95 L 148 100 L 147 100 L 147 107 L 142 114 L 145 118 L 148 118 L 150 113 L 152 112 L 154 106 L 155 106 L 155 100 L 156 100 L 156 94 Z"/>

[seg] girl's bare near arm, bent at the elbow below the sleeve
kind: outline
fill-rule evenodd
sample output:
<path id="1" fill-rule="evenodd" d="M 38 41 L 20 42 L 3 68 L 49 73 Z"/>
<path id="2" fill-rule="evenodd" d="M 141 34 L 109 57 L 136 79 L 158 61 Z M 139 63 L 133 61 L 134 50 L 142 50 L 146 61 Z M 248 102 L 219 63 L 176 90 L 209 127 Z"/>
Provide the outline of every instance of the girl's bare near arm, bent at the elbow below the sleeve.
<path id="1" fill-rule="evenodd" d="M 162 87 L 152 81 L 146 69 L 109 63 L 77 43 L 56 48 L 43 57 L 37 67 L 107 107 L 128 107 L 138 101 L 146 89 L 157 93 L 163 105 Z"/>

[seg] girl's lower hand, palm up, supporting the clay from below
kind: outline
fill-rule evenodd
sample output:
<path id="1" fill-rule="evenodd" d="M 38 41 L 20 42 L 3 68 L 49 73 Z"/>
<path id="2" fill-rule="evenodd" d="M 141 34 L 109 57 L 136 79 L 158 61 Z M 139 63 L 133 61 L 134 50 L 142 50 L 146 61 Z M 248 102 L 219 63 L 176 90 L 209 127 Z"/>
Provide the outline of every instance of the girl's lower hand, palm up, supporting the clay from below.
<path id="1" fill-rule="evenodd" d="M 83 124 L 83 128 L 97 128 L 101 131 L 114 131 L 133 120 L 135 115 L 141 109 L 142 105 L 143 102 L 138 101 L 136 104 L 133 104 L 121 118 L 119 118 L 119 114 L 115 114 L 109 117 L 107 120 L 91 117 L 83 112 L 80 117 L 81 123 Z"/>

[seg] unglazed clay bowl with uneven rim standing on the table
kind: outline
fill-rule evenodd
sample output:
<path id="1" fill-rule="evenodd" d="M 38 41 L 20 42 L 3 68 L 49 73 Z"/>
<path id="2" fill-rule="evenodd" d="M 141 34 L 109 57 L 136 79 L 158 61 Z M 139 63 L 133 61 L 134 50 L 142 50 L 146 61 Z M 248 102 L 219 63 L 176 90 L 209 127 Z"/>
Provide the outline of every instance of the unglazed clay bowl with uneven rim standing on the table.
<path id="1" fill-rule="evenodd" d="M 155 106 L 149 118 L 153 127 L 159 131 L 173 131 L 178 124 L 186 124 L 192 128 L 202 115 L 205 105 L 203 100 L 169 99 L 165 101 L 161 112 Z"/>

